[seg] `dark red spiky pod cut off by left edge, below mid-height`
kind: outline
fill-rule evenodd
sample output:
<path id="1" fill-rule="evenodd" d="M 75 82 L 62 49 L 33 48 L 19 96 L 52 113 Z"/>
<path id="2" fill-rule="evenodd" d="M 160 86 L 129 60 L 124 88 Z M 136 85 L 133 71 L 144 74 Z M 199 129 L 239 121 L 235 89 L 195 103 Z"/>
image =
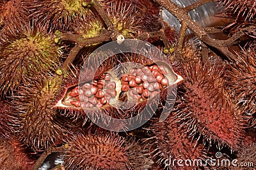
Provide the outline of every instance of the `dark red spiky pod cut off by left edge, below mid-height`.
<path id="1" fill-rule="evenodd" d="M 19 129 L 17 114 L 6 101 L 0 99 L 0 138 L 10 138 L 10 134 Z"/>

